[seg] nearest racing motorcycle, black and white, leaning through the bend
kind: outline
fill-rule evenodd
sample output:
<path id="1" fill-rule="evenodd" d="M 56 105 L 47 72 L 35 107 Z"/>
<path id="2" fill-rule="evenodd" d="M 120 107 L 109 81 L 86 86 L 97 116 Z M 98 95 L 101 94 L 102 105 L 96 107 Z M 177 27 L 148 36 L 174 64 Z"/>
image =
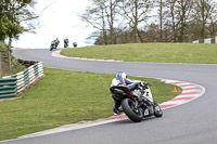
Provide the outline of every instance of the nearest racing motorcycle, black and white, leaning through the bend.
<path id="1" fill-rule="evenodd" d="M 143 82 L 143 87 L 137 84 L 129 86 L 113 86 L 110 91 L 114 95 L 114 99 L 122 100 L 123 112 L 133 122 L 140 122 L 145 117 L 162 117 L 163 110 L 159 105 L 151 100 L 146 82 Z"/>

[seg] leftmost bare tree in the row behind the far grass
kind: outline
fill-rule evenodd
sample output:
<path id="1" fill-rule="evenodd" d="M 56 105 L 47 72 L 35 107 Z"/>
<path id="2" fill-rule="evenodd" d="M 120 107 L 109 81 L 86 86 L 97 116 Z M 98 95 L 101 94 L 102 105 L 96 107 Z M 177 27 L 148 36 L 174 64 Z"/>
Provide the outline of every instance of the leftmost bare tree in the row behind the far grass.
<path id="1" fill-rule="evenodd" d="M 116 43 L 114 23 L 117 3 L 118 0 L 91 0 L 91 6 L 80 15 L 84 22 L 101 31 L 104 44 Z"/>

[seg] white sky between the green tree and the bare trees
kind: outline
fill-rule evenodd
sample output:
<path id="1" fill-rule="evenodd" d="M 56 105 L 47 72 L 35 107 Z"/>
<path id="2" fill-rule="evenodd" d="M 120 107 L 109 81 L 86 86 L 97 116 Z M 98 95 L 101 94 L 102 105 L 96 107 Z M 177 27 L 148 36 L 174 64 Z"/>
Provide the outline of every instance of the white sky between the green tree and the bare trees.
<path id="1" fill-rule="evenodd" d="M 13 47 L 50 48 L 51 41 L 59 38 L 63 48 L 66 37 L 69 47 L 73 47 L 73 42 L 77 42 L 78 47 L 91 45 L 86 39 L 94 29 L 78 16 L 89 4 L 88 0 L 37 0 L 35 8 L 38 13 L 50 5 L 39 17 L 40 27 L 35 30 L 36 34 L 22 34 L 18 40 L 14 40 Z"/>

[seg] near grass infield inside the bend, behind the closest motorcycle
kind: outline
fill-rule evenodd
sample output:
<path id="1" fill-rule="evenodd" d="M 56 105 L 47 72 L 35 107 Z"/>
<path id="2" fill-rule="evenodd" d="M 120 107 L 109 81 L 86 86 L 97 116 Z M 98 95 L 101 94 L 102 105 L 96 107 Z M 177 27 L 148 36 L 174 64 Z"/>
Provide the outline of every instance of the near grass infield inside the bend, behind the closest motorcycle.
<path id="1" fill-rule="evenodd" d="M 0 102 L 0 140 L 73 123 L 110 117 L 113 100 L 108 88 L 114 75 L 44 68 L 47 75 L 20 99 Z M 135 77 L 131 77 L 135 79 Z M 154 79 L 151 84 L 158 103 L 178 95 L 174 87 Z"/>

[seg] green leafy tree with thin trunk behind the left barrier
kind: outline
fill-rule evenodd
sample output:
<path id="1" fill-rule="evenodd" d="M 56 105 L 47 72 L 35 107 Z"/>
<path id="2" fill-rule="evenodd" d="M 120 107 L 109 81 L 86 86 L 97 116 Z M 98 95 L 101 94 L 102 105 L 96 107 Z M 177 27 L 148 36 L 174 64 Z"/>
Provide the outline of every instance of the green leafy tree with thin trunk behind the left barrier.
<path id="1" fill-rule="evenodd" d="M 30 21 L 36 19 L 34 11 L 34 0 L 1 0 L 0 14 L 2 15 L 0 26 L 1 40 L 9 37 L 8 55 L 11 67 L 11 44 L 13 38 L 17 39 L 23 31 L 29 31 L 34 25 Z M 25 24 L 24 24 L 25 22 Z"/>

